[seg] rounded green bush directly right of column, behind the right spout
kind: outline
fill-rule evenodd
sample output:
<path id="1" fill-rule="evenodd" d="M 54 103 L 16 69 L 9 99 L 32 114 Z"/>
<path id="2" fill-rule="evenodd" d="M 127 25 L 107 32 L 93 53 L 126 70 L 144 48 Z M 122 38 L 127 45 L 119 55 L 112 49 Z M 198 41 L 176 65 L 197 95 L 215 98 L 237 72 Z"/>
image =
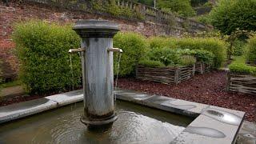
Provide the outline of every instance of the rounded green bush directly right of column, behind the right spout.
<path id="1" fill-rule="evenodd" d="M 114 36 L 114 47 L 123 50 L 120 62 L 119 75 L 126 76 L 135 73 L 135 66 L 143 58 L 146 51 L 145 38 L 141 34 L 118 33 Z M 114 71 L 116 74 L 117 57 L 114 56 Z"/>

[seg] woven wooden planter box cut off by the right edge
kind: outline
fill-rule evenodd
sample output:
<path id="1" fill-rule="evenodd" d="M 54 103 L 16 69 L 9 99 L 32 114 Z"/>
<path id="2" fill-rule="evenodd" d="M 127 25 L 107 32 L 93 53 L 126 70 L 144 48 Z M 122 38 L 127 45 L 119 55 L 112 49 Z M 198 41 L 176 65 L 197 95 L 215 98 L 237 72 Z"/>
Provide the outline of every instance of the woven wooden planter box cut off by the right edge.
<path id="1" fill-rule="evenodd" d="M 256 95 L 256 77 L 250 74 L 229 72 L 226 89 L 228 91 Z"/>

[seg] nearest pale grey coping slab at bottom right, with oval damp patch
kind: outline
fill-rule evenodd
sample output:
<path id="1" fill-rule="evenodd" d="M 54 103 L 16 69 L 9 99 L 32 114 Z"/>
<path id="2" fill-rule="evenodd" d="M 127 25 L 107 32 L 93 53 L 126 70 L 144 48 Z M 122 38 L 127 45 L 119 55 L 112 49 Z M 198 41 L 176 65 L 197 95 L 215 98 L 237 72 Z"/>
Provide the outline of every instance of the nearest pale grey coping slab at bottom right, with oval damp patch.
<path id="1" fill-rule="evenodd" d="M 242 122 L 242 119 L 240 120 Z M 171 143 L 182 144 L 220 144 L 234 143 L 239 126 L 220 122 L 214 118 L 200 114 Z"/>

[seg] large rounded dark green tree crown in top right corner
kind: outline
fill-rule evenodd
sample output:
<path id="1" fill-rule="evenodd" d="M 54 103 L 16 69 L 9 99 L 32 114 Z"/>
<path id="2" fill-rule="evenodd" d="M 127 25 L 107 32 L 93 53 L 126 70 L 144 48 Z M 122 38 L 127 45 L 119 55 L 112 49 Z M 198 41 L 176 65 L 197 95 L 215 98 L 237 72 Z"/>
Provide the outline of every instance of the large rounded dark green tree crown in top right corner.
<path id="1" fill-rule="evenodd" d="M 220 0 L 210 11 L 210 22 L 222 34 L 256 30 L 256 0 Z"/>

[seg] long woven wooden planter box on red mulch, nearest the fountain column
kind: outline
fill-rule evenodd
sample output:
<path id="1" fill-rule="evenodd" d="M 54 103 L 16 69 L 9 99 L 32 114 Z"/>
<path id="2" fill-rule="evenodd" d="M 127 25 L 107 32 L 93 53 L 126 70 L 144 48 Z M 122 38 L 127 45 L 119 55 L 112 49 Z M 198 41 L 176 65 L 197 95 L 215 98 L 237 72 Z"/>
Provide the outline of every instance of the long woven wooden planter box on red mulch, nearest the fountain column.
<path id="1" fill-rule="evenodd" d="M 136 78 L 166 84 L 178 84 L 194 76 L 194 66 L 146 67 L 137 66 Z"/>

